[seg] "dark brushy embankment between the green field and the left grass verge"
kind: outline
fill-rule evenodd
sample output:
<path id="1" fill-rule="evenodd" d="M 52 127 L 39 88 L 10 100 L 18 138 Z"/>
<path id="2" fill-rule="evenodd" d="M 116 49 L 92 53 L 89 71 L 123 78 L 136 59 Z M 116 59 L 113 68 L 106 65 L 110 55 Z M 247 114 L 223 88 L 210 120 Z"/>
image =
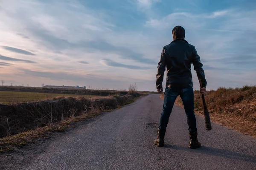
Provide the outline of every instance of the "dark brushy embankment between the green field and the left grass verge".
<path id="1" fill-rule="evenodd" d="M 61 122 L 82 114 L 105 111 L 132 102 L 140 94 L 99 99 L 58 98 L 41 102 L 0 105 L 0 138 Z"/>

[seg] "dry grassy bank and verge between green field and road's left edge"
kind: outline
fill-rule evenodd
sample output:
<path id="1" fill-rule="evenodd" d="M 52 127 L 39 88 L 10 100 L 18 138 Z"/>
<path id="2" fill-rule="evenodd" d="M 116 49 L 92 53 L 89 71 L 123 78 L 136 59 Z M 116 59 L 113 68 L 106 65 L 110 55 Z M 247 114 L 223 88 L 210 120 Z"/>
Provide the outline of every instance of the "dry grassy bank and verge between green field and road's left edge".
<path id="1" fill-rule="evenodd" d="M 52 132 L 63 132 L 75 122 L 98 116 L 127 105 L 140 94 L 108 96 L 85 99 L 60 98 L 49 101 L 0 105 L 0 152 L 12 151 L 15 147 L 48 138 Z"/>

